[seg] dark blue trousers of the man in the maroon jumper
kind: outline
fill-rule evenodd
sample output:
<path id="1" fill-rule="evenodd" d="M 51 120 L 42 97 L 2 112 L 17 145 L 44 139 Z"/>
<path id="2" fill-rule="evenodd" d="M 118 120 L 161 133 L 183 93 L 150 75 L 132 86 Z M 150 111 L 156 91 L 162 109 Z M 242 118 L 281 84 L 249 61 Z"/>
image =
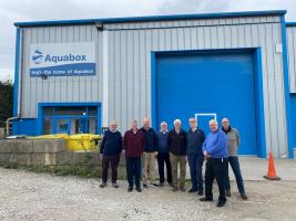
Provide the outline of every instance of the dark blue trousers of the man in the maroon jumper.
<path id="1" fill-rule="evenodd" d="M 126 175 L 130 187 L 140 188 L 141 178 L 141 157 L 125 157 L 126 159 Z"/>

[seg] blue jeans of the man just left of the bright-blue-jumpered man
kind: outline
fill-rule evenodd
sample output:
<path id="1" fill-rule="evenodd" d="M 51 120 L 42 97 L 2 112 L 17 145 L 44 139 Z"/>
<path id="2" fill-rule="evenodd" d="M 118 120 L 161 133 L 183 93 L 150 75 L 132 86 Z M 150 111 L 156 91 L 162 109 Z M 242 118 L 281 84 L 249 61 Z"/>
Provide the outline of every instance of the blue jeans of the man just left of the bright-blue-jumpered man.
<path id="1" fill-rule="evenodd" d="M 204 157 L 198 155 L 187 155 L 191 170 L 191 182 L 193 190 L 203 190 L 203 162 Z"/>

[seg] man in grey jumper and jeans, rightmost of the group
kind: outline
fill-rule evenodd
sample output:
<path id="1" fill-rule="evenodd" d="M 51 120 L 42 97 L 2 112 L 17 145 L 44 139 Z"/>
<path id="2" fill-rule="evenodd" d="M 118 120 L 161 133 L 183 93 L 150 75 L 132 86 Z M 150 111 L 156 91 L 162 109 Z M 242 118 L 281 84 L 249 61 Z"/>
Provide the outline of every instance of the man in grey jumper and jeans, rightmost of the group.
<path id="1" fill-rule="evenodd" d="M 243 200 L 247 200 L 247 196 L 245 193 L 244 188 L 244 180 L 242 177 L 241 168 L 239 168 L 239 161 L 237 157 L 237 149 L 241 145 L 239 140 L 239 134 L 236 128 L 231 127 L 228 118 L 222 119 L 223 128 L 222 130 L 227 135 L 227 148 L 228 148 L 228 162 L 232 166 L 233 173 L 236 179 L 237 189 L 241 193 L 241 197 Z M 225 190 L 226 190 L 226 197 L 231 197 L 231 181 L 228 176 L 228 166 L 226 168 L 227 171 L 227 179 L 225 179 Z"/>

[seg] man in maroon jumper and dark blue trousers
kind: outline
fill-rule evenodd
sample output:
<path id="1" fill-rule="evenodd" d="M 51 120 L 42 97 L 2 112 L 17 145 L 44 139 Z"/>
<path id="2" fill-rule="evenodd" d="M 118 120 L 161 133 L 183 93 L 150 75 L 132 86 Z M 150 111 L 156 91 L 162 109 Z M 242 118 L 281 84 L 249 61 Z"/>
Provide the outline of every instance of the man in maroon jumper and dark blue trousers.
<path id="1" fill-rule="evenodd" d="M 125 131 L 123 137 L 123 149 L 125 150 L 126 159 L 126 175 L 129 181 L 127 191 L 135 189 L 137 192 L 142 192 L 140 178 L 141 178 L 141 156 L 144 151 L 144 136 L 137 128 L 137 122 L 133 120 L 132 128 Z"/>

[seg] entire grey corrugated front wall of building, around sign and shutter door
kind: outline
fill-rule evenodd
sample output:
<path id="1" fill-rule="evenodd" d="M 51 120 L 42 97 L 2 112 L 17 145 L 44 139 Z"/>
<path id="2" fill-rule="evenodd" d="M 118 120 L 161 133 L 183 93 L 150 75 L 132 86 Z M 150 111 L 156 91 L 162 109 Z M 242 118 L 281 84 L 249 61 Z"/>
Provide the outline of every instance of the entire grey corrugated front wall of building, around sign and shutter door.
<path id="1" fill-rule="evenodd" d="M 267 151 L 287 154 L 283 54 L 275 52 L 275 44 L 282 43 L 279 17 L 129 22 L 104 24 L 104 29 L 109 45 L 109 120 L 116 119 L 122 131 L 132 119 L 151 116 L 151 51 L 261 46 Z M 30 43 L 79 41 L 98 42 L 95 76 L 47 81 L 29 76 Z M 102 32 L 94 27 L 25 29 L 22 117 L 37 117 L 39 102 L 102 101 Z"/>

